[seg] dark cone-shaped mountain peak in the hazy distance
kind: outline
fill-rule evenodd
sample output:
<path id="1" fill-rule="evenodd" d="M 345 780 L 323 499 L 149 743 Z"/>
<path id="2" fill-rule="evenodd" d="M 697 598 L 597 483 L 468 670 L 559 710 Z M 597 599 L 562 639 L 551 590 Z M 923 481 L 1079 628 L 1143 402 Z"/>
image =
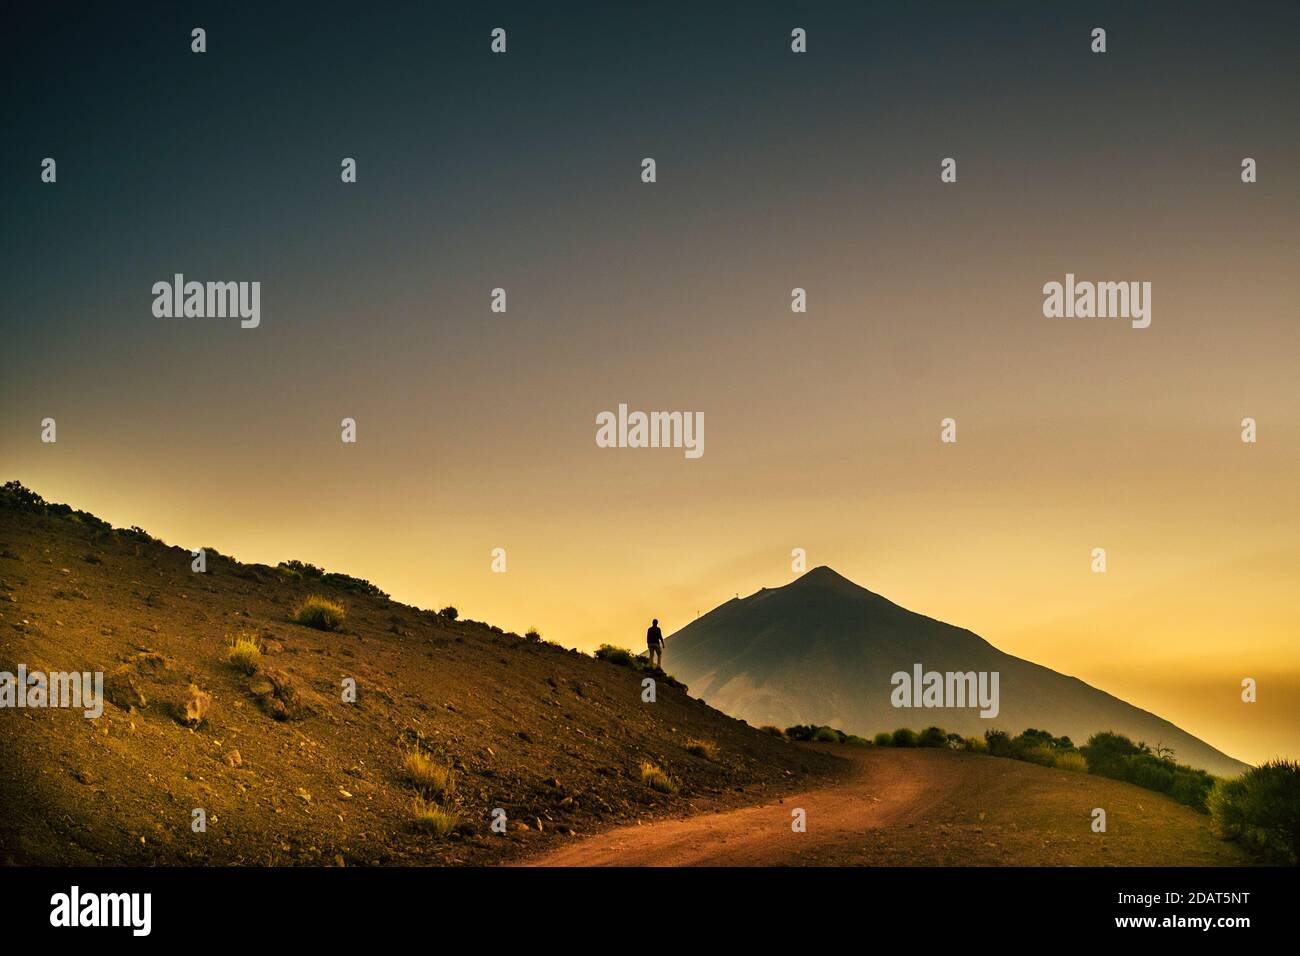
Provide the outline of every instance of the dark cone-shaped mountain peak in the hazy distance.
<path id="1" fill-rule="evenodd" d="M 1214 774 L 1248 769 L 1156 714 L 979 635 L 901 607 L 829 567 L 732 598 L 671 635 L 667 666 L 712 706 L 754 724 L 831 724 L 870 735 L 939 724 L 963 735 L 1039 727 L 1082 744 L 1115 731 Z M 978 708 L 894 708 L 893 674 L 998 674 L 998 714 Z"/>

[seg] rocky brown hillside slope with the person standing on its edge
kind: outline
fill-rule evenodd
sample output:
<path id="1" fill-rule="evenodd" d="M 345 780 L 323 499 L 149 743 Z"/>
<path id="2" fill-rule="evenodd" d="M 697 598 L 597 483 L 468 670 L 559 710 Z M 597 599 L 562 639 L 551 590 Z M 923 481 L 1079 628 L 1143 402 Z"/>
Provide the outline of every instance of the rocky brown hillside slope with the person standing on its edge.
<path id="1" fill-rule="evenodd" d="M 0 864 L 495 862 L 845 767 L 663 683 L 644 704 L 640 674 L 576 652 L 211 551 L 196 574 L 143 532 L 39 511 L 0 506 L 0 671 L 100 670 L 114 702 L 0 710 Z M 316 593 L 347 605 L 341 632 L 292 623 Z M 252 676 L 225 661 L 239 631 L 266 649 Z M 194 728 L 191 683 L 212 701 Z M 456 769 L 447 838 L 413 826 L 411 748 Z M 642 784 L 644 760 L 681 791 Z"/>

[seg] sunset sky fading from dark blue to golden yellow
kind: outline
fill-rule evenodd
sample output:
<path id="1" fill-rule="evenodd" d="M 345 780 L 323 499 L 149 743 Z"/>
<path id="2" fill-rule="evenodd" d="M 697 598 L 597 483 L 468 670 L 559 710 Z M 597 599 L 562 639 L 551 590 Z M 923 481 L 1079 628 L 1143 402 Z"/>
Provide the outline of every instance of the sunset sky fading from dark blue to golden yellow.
<path id="1" fill-rule="evenodd" d="M 5 14 L 0 479 L 584 649 L 802 548 L 1300 756 L 1297 8 L 225 7 Z M 155 317 L 178 272 L 259 328 Z"/>

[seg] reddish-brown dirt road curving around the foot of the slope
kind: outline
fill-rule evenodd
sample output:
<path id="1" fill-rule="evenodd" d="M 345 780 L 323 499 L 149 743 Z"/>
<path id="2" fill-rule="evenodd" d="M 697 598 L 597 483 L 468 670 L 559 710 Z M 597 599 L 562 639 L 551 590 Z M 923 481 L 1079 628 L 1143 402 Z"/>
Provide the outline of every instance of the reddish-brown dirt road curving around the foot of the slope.
<path id="1" fill-rule="evenodd" d="M 835 748 L 844 783 L 759 806 L 624 826 L 538 866 L 1240 865 L 1209 817 L 1088 774 L 946 750 Z M 1092 831 L 1093 808 L 1106 832 Z M 806 832 L 792 813 L 806 813 Z"/>

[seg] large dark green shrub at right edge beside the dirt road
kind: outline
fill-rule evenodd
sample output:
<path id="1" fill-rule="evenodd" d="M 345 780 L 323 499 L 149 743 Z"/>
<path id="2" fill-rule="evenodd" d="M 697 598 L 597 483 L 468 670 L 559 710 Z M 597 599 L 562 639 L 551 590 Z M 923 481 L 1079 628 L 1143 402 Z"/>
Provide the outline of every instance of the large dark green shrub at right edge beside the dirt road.
<path id="1" fill-rule="evenodd" d="M 1264 862 L 1300 862 L 1300 763 L 1271 760 L 1242 777 L 1219 780 L 1209 795 L 1219 832 Z"/>

